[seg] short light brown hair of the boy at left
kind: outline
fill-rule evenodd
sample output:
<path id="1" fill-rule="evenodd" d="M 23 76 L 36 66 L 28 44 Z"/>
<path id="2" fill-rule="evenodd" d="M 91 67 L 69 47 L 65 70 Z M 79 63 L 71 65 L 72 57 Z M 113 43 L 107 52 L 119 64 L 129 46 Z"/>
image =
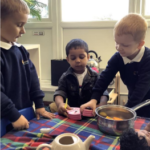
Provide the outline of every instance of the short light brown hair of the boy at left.
<path id="1" fill-rule="evenodd" d="M 1 19 L 5 19 L 13 13 L 30 13 L 30 9 L 24 0 L 0 0 L 0 2 Z"/>

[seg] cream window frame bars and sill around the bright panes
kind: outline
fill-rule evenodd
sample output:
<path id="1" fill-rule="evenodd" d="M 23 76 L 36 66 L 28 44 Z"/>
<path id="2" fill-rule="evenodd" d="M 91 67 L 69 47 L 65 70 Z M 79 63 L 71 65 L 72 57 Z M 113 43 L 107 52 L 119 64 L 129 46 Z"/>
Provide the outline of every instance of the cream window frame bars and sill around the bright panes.
<path id="1" fill-rule="evenodd" d="M 61 14 L 61 0 L 48 0 L 49 18 L 41 20 L 28 19 L 26 28 L 52 28 L 54 25 L 61 28 L 113 28 L 117 21 L 86 21 L 63 22 Z M 145 0 L 129 0 L 129 13 L 139 13 L 144 16 Z M 144 16 L 150 26 L 150 16 Z M 59 25 L 58 25 L 59 24 Z"/>

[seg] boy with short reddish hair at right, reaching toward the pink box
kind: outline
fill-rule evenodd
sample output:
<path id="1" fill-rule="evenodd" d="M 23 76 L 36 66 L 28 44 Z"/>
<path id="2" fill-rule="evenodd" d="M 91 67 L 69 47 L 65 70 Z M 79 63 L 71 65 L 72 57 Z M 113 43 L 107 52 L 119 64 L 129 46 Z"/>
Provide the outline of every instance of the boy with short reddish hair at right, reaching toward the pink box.
<path id="1" fill-rule="evenodd" d="M 114 39 L 118 52 L 108 61 L 93 89 L 92 100 L 82 110 L 95 110 L 97 100 L 118 71 L 129 91 L 127 107 L 150 99 L 150 49 L 144 46 L 147 28 L 146 20 L 138 14 L 128 14 L 116 23 Z M 150 106 L 137 110 L 137 115 L 150 117 Z"/>

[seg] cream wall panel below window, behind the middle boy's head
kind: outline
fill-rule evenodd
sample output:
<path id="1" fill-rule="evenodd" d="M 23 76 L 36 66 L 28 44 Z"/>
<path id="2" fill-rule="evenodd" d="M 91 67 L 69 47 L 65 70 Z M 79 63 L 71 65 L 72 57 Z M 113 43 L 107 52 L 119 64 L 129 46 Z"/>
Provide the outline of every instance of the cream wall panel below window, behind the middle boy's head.
<path id="1" fill-rule="evenodd" d="M 112 29 L 64 29 L 64 49 L 70 39 L 81 38 L 88 43 L 89 49 L 101 56 L 101 68 L 105 68 L 108 59 L 114 54 L 115 43 Z M 65 50 L 64 50 L 65 54 Z"/>

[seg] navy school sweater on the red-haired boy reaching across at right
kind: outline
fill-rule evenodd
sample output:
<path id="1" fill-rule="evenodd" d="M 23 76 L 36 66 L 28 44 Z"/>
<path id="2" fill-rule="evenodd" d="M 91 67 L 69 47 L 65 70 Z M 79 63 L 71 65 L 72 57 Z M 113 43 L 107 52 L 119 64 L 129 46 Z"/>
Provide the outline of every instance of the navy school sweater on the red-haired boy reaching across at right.
<path id="1" fill-rule="evenodd" d="M 150 49 L 147 47 L 145 47 L 140 62 L 126 65 L 120 54 L 116 52 L 108 61 L 106 69 L 100 74 L 100 78 L 93 88 L 92 99 L 98 100 L 100 98 L 118 71 L 129 91 L 127 107 L 133 107 L 150 99 Z M 139 109 L 137 115 L 150 117 L 150 105 Z"/>

